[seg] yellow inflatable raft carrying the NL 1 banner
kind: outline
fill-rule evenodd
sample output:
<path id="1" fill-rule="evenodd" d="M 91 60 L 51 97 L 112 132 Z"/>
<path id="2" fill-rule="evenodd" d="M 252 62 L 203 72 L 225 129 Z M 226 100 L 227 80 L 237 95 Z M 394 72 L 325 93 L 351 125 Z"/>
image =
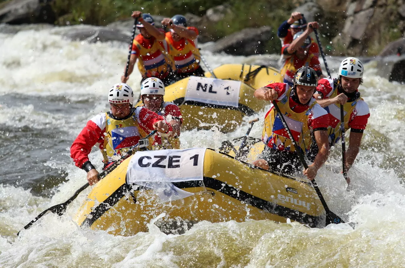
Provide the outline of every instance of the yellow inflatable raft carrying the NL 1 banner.
<path id="1" fill-rule="evenodd" d="M 224 64 L 214 73 L 217 79 L 188 77 L 166 87 L 164 101 L 180 107 L 183 130 L 216 126 L 224 133 L 234 131 L 245 115 L 269 104 L 254 98 L 255 89 L 282 80 L 277 70 L 256 65 Z"/>

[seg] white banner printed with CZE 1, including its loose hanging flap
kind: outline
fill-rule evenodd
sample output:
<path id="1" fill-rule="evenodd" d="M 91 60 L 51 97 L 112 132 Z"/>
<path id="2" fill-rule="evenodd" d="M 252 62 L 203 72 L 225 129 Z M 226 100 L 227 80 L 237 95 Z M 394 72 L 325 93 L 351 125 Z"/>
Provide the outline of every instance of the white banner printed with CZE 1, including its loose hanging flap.
<path id="1" fill-rule="evenodd" d="M 192 196 L 173 182 L 203 181 L 205 148 L 136 152 L 127 170 L 127 183 L 156 191 L 162 202 Z"/>

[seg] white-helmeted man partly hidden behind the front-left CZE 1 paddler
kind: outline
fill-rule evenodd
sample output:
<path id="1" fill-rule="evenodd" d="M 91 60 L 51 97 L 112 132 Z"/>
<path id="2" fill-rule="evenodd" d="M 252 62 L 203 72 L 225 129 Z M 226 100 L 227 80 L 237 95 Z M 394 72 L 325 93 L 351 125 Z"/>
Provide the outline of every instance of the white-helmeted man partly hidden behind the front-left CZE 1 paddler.
<path id="1" fill-rule="evenodd" d="M 164 117 L 172 127 L 173 131 L 167 137 L 156 136 L 154 145 L 160 145 L 165 149 L 180 149 L 180 128 L 183 123 L 183 116 L 179 106 L 173 102 L 163 101 L 164 85 L 158 78 L 148 78 L 141 85 L 141 100 L 149 110 Z M 168 143 L 168 144 L 167 144 Z"/>

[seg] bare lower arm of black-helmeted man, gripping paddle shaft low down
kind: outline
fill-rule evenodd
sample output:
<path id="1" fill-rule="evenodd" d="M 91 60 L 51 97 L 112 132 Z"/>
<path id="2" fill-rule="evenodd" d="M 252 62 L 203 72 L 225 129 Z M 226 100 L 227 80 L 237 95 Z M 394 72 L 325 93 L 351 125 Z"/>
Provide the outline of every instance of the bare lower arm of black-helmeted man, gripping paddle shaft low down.
<path id="1" fill-rule="evenodd" d="M 313 132 L 315 136 L 316 144 L 319 151 L 315 157 L 313 163 L 304 170 L 304 175 L 307 175 L 308 179 L 313 180 L 320 169 L 320 167 L 328 160 L 329 156 L 329 141 L 328 132 L 326 130 L 315 130 Z"/>

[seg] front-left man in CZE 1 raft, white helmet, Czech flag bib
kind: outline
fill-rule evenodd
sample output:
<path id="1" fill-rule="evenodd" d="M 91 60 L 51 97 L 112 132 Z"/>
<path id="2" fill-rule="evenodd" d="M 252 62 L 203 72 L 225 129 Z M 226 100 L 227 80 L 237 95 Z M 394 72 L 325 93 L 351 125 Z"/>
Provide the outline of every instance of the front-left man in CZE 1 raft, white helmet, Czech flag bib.
<path id="1" fill-rule="evenodd" d="M 134 94 L 127 84 L 113 85 L 108 101 L 111 110 L 90 119 L 70 147 L 70 157 L 87 172 L 90 185 L 98 181 L 98 172 L 88 157 L 94 145 L 100 148 L 105 168 L 152 130 L 158 130 L 160 135 L 168 135 L 173 130 L 162 116 L 145 107 L 133 108 Z"/>

